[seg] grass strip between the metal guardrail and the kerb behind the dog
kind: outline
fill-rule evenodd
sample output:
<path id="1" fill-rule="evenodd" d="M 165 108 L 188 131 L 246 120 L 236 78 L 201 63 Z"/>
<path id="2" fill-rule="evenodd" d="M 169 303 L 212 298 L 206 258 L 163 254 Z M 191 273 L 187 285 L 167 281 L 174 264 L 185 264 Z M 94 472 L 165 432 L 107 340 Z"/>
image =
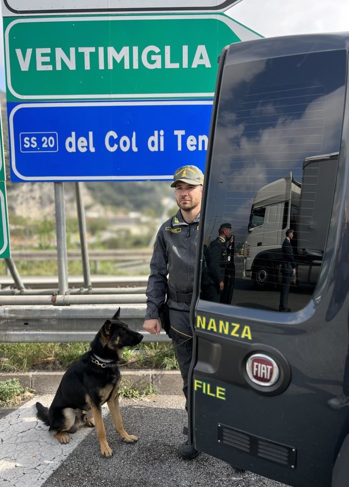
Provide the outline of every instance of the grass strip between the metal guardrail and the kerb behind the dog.
<path id="1" fill-rule="evenodd" d="M 65 370 L 89 349 L 88 343 L 0 343 L 0 371 Z M 170 343 L 145 343 L 123 350 L 123 367 L 177 369 Z"/>

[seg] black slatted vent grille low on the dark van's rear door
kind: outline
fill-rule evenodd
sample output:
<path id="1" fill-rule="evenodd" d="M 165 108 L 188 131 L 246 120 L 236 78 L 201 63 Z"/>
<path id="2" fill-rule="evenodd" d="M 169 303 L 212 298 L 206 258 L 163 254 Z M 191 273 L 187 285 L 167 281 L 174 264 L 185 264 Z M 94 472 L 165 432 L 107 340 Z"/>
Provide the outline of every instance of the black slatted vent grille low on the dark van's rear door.
<path id="1" fill-rule="evenodd" d="M 217 440 L 223 445 L 254 457 L 260 457 L 290 469 L 296 468 L 297 452 L 293 447 L 281 445 L 223 424 L 217 426 Z"/>

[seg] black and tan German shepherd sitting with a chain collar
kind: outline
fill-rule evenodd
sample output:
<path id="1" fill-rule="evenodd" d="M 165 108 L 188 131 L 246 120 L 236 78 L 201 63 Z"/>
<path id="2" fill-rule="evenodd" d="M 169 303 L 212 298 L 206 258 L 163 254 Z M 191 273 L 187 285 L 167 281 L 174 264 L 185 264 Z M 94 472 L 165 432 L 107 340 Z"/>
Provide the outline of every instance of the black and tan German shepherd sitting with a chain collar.
<path id="1" fill-rule="evenodd" d="M 50 409 L 36 403 L 37 417 L 60 443 L 69 443 L 68 433 L 82 426 L 96 427 L 101 454 L 110 458 L 101 406 L 105 402 L 113 418 L 116 431 L 126 443 L 134 443 L 137 436 L 124 430 L 119 408 L 118 390 L 121 382 L 117 363 L 122 348 L 138 345 L 143 335 L 134 332 L 119 320 L 120 308 L 111 320 L 106 320 L 90 343 L 90 350 L 71 365 L 63 375 Z M 93 416 L 93 417 L 92 417 Z"/>

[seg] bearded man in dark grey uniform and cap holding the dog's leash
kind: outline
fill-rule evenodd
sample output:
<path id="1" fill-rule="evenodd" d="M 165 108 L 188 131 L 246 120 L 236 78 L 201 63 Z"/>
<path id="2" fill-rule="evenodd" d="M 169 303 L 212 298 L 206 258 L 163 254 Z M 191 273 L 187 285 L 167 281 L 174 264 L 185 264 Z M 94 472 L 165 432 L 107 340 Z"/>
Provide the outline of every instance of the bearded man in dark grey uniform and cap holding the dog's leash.
<path id="1" fill-rule="evenodd" d="M 201 209 L 203 174 L 196 166 L 182 166 L 174 173 L 174 195 L 179 207 L 174 217 L 165 222 L 157 234 L 150 262 L 146 289 L 147 311 L 143 328 L 159 334 L 159 310 L 169 308 L 169 331 L 183 379 L 187 399 L 188 371 L 192 356 L 192 332 L 189 322 L 193 295 L 195 258 Z M 186 441 L 180 447 L 183 459 L 199 454 Z"/>

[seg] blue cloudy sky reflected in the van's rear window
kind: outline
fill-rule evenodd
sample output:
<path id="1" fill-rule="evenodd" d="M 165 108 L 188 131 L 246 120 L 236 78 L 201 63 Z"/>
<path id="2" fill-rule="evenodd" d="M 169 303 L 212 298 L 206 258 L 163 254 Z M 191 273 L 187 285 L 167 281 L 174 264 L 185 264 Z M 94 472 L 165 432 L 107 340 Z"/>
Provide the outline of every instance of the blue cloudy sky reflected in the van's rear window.
<path id="1" fill-rule="evenodd" d="M 225 67 L 209 188 L 210 233 L 220 220 L 247 228 L 262 186 L 289 171 L 301 182 L 305 157 L 339 150 L 345 56 L 314 53 L 291 62 L 276 58 Z"/>

